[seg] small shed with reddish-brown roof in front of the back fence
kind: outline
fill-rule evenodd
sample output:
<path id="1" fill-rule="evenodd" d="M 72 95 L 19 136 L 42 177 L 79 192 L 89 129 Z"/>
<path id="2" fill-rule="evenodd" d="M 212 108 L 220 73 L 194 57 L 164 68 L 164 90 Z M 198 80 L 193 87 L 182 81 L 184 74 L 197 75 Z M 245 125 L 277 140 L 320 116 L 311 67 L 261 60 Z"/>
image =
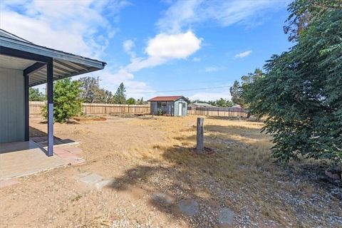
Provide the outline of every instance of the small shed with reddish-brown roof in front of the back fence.
<path id="1" fill-rule="evenodd" d="M 172 116 L 187 115 L 187 98 L 182 95 L 158 96 L 147 100 L 150 102 L 151 114 L 162 114 Z"/>

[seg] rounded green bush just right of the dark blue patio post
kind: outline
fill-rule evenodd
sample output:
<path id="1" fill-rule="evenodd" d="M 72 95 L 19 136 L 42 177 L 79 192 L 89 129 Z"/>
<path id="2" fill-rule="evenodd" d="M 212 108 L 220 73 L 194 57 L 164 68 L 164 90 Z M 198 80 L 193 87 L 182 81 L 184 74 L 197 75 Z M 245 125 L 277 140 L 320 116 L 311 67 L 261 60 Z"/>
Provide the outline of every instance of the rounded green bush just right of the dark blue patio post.
<path id="1" fill-rule="evenodd" d="M 81 114 L 81 84 L 70 78 L 56 81 L 53 85 L 53 118 L 58 123 L 66 122 Z M 47 118 L 47 105 L 43 107 L 43 117 Z"/>

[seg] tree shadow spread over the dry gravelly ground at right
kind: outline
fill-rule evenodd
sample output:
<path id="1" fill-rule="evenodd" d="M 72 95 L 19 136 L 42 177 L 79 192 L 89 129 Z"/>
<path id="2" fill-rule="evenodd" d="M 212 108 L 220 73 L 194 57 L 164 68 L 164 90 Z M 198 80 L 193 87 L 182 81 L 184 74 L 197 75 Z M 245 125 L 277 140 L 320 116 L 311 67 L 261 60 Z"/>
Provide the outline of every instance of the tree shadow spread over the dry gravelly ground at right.
<path id="1" fill-rule="evenodd" d="M 224 141 L 234 145 L 229 152 L 198 155 L 193 149 L 195 135 L 177 136 L 181 146 L 155 145 L 162 157 L 159 162 L 127 170 L 111 187 L 127 191 L 138 186 L 147 192 L 152 207 L 193 227 L 217 227 L 219 210 L 225 208 L 234 212 L 234 225 L 247 227 L 279 227 L 289 222 L 297 227 L 324 226 L 328 217 L 322 210 L 341 217 L 342 203 L 337 195 L 329 195 L 336 185 L 326 182 L 322 187 L 319 178 L 325 177 L 302 176 L 298 167 L 274 163 L 269 145 L 263 144 L 269 143 L 267 138 L 256 141 L 259 130 L 243 127 L 238 134 L 232 126 L 207 125 L 204 129 L 207 145 L 219 143 L 219 150 L 227 147 Z M 232 134 L 239 137 L 230 138 Z M 181 213 L 180 204 L 189 200 L 195 202 L 195 214 Z"/>

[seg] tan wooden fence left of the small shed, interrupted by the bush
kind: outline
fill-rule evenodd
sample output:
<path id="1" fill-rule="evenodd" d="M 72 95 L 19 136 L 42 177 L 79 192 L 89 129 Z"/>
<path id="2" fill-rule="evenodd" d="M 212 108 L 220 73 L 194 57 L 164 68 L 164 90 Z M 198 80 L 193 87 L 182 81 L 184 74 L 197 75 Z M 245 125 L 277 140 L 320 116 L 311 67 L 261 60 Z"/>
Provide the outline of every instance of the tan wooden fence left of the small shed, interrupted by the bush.
<path id="1" fill-rule="evenodd" d="M 41 110 L 45 105 L 44 101 L 30 101 L 30 117 L 41 116 Z M 118 105 L 118 104 L 100 104 L 83 103 L 82 113 L 88 115 L 95 114 L 149 114 L 150 105 Z"/>

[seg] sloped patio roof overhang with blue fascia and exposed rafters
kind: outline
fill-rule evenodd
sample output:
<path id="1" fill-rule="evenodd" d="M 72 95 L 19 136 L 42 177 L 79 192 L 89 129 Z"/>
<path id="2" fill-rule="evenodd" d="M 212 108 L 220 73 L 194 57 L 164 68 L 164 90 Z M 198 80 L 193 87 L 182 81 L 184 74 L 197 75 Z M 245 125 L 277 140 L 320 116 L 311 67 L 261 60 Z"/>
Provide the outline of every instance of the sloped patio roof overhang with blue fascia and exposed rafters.
<path id="1" fill-rule="evenodd" d="M 103 61 L 98 61 L 92 58 L 86 58 L 83 56 L 74 55 L 72 53 L 57 51 L 52 48 L 38 46 L 34 43 L 26 41 L 24 38 L 20 38 L 19 36 L 4 31 L 0 28 L 0 65 L 2 67 L 7 66 L 7 68 L 11 68 L 10 63 L 14 63 L 14 61 L 11 61 L 10 59 L 13 57 L 1 55 L 1 47 L 12 48 L 19 51 L 25 51 L 28 53 L 34 53 L 53 58 L 53 80 L 59 80 L 62 78 L 77 76 L 82 73 L 98 71 L 103 69 L 107 64 Z M 16 63 L 17 68 L 19 67 L 20 69 L 20 66 L 26 66 L 28 60 L 16 58 Z M 31 65 L 33 65 L 36 62 L 31 61 L 31 63 Z M 24 68 L 21 70 L 24 70 Z M 38 71 L 28 74 L 28 86 L 38 86 L 46 83 L 46 81 L 46 65 L 42 64 Z"/>

